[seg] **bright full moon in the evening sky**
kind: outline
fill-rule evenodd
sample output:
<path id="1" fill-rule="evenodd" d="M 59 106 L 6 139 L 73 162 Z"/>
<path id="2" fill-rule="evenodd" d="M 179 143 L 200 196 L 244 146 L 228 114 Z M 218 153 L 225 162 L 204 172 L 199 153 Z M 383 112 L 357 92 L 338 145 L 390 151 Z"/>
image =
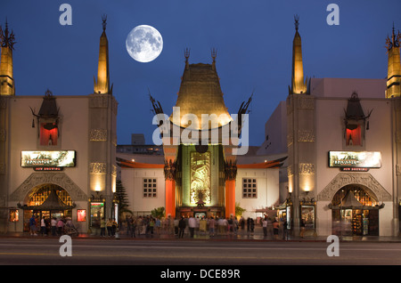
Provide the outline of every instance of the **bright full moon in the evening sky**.
<path id="1" fill-rule="evenodd" d="M 141 25 L 133 28 L 126 40 L 127 53 L 135 61 L 147 63 L 155 60 L 163 49 L 160 32 L 151 26 Z"/>

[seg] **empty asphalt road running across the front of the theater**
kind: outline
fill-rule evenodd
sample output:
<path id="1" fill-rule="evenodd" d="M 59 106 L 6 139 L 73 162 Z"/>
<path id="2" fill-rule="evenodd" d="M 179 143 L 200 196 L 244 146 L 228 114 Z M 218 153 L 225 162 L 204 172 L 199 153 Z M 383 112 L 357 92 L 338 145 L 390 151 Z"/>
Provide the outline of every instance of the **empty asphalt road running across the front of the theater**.
<path id="1" fill-rule="evenodd" d="M 401 243 L 0 239 L 0 265 L 398 265 Z M 329 254 L 328 255 L 328 249 Z M 333 254 L 338 252 L 338 256 Z"/>

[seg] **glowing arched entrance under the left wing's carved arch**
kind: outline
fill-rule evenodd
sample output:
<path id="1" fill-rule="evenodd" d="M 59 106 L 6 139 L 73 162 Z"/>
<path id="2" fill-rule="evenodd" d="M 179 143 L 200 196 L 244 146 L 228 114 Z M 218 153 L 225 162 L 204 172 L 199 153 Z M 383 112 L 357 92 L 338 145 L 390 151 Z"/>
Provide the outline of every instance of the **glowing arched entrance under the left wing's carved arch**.
<path id="1" fill-rule="evenodd" d="M 69 193 L 55 184 L 42 184 L 31 190 L 25 198 L 23 209 L 24 231 L 29 231 L 29 219 L 35 216 L 37 230 L 40 220 L 45 217 L 46 226 L 50 229 L 50 219 L 72 217 L 72 204 Z M 48 224 L 48 225 L 47 225 Z"/>

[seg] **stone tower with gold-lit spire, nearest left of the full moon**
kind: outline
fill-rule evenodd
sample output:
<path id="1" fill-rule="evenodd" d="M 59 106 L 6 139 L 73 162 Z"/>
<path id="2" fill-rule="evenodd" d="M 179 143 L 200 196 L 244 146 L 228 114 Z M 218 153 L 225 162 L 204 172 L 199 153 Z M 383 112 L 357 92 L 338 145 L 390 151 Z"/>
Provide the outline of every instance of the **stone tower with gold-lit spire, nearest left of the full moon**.
<path id="1" fill-rule="evenodd" d="M 102 17 L 102 36 L 97 83 L 89 94 L 89 190 L 95 200 L 105 200 L 105 216 L 113 215 L 113 193 L 116 190 L 116 146 L 118 102 L 109 87 L 109 48 L 106 17 Z"/>

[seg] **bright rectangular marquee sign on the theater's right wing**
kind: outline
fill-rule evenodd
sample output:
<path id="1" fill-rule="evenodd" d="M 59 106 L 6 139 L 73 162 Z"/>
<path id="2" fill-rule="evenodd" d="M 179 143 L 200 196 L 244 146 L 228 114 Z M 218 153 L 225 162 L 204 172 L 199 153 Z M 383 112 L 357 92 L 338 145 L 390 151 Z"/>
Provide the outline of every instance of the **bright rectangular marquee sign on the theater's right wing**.
<path id="1" fill-rule="evenodd" d="M 380 151 L 329 151 L 330 167 L 380 168 Z"/>

